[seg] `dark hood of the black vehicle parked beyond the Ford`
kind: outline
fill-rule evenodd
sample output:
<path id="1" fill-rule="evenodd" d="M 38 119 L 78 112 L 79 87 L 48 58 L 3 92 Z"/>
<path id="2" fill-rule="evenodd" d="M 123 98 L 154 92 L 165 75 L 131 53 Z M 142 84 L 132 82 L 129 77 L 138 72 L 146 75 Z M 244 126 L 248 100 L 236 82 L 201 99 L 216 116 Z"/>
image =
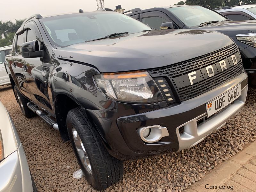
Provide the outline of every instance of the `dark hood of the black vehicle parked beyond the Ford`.
<path id="1" fill-rule="evenodd" d="M 222 30 L 249 30 L 256 33 L 256 20 L 249 21 L 224 21 L 212 23 L 204 27 L 194 28 L 198 30 L 222 31 Z"/>

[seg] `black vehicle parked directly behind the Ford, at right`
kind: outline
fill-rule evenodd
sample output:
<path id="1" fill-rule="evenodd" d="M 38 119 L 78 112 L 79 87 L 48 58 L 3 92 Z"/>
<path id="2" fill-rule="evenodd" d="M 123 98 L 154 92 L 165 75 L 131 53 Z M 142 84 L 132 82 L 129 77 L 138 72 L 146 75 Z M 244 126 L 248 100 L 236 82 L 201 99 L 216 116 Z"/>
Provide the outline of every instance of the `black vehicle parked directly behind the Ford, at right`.
<path id="1" fill-rule="evenodd" d="M 127 11 L 127 15 L 155 29 L 160 29 L 164 23 L 165 27 L 174 29 L 218 31 L 228 35 L 238 45 L 249 83 L 256 85 L 255 20 L 232 21 L 209 7 L 199 5 L 135 8 Z"/>

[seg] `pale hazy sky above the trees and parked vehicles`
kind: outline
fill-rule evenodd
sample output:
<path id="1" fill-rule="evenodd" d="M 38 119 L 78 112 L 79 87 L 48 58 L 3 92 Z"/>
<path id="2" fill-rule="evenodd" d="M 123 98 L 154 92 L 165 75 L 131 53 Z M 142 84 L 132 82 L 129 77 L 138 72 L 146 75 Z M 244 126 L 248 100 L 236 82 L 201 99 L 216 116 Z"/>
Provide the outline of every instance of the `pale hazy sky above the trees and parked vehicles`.
<path id="1" fill-rule="evenodd" d="M 136 7 L 147 9 L 173 5 L 180 0 L 105 0 L 105 7 L 115 9 L 116 5 L 122 5 L 125 10 Z M 7 3 L 8 2 L 8 3 Z M 79 9 L 84 11 L 93 11 L 97 9 L 96 0 L 7 0 L 1 1 L 0 20 L 15 21 L 15 19 L 24 19 L 39 13 L 44 15 L 54 15 L 59 13 L 78 12 Z"/>

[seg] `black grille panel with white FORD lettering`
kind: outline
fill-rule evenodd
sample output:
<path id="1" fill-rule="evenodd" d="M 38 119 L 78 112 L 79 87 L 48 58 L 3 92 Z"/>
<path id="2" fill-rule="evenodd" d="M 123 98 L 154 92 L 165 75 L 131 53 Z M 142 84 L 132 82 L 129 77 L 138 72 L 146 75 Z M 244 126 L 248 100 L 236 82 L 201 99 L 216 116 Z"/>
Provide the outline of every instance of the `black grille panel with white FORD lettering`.
<path id="1" fill-rule="evenodd" d="M 209 77 L 222 73 L 228 68 L 235 66 L 240 61 L 241 61 L 241 57 L 237 52 L 236 54 L 231 55 L 230 57 L 224 60 L 221 60 L 213 65 L 209 65 L 205 68 L 201 68 L 196 71 L 190 72 L 188 74 L 175 77 L 173 78 L 173 81 L 175 82 L 178 88 L 186 87 L 188 85 L 193 85 Z"/>

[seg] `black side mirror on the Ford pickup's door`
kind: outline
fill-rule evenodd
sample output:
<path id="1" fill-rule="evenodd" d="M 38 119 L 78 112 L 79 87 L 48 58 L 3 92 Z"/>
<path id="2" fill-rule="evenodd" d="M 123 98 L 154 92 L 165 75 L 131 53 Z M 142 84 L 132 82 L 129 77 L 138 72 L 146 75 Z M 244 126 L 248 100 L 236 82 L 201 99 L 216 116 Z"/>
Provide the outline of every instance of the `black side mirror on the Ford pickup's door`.
<path id="1" fill-rule="evenodd" d="M 39 50 L 39 44 L 37 40 L 28 41 L 21 44 L 21 55 L 24 58 L 36 58 L 42 57 L 43 51 Z"/>

